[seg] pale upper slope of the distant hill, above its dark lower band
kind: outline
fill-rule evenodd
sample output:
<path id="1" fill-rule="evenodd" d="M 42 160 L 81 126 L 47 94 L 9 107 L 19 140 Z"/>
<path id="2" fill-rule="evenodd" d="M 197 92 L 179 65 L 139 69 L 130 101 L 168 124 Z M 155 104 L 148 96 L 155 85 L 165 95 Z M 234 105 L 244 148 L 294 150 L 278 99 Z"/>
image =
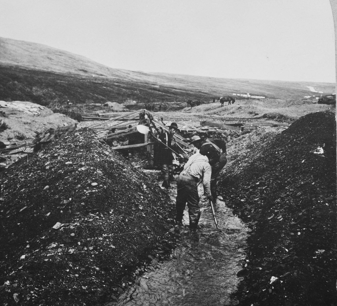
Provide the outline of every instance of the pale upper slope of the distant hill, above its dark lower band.
<path id="1" fill-rule="evenodd" d="M 232 93 L 254 93 L 269 98 L 303 98 L 311 95 L 308 86 L 317 91 L 331 94 L 335 84 L 310 82 L 284 82 L 248 79 L 223 79 L 202 76 L 167 73 L 145 73 L 113 69 L 84 56 L 55 49 L 46 45 L 0 38 L 0 66 L 3 68 L 52 72 L 77 75 L 78 77 L 99 77 L 111 81 L 127 81 L 151 86 L 151 92 L 166 91 L 179 95 L 191 92 L 195 96 L 220 96 Z M 19 72 L 20 73 L 20 72 Z"/>

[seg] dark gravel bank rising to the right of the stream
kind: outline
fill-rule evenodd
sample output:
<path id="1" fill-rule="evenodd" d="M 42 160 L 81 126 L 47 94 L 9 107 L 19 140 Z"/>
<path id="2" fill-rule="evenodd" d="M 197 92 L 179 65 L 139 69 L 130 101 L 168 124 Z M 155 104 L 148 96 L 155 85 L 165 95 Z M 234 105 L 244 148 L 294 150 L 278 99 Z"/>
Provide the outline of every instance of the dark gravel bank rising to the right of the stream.
<path id="1" fill-rule="evenodd" d="M 219 182 L 251 224 L 240 305 L 336 305 L 335 115 L 308 114 L 249 145 Z M 236 151 L 228 145 L 230 160 Z"/>

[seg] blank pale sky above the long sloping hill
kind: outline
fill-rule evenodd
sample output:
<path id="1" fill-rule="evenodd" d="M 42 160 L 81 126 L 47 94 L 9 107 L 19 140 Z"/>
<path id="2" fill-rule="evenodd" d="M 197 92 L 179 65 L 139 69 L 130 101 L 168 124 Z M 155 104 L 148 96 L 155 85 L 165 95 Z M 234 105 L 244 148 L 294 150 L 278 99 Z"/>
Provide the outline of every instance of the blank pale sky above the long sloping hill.
<path id="1" fill-rule="evenodd" d="M 0 13 L 0 37 L 111 68 L 336 81 L 329 0 L 0 0 Z"/>

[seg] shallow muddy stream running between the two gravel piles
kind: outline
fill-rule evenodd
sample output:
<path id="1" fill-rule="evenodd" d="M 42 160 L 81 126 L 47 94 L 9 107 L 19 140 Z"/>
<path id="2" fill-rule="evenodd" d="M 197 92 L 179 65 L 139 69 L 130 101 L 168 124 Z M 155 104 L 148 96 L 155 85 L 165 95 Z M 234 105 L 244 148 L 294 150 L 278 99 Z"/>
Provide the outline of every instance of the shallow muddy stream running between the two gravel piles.
<path id="1" fill-rule="evenodd" d="M 175 186 L 170 196 L 174 203 Z M 242 269 L 239 261 L 245 258 L 248 228 L 224 202 L 218 203 L 216 217 L 221 231 L 216 229 L 206 201 L 200 203 L 202 215 L 196 232 L 187 227 L 185 210 L 185 226 L 179 227 L 181 243 L 171 260 L 144 273 L 114 305 L 236 305 L 230 294 L 240 281 L 236 274 Z"/>

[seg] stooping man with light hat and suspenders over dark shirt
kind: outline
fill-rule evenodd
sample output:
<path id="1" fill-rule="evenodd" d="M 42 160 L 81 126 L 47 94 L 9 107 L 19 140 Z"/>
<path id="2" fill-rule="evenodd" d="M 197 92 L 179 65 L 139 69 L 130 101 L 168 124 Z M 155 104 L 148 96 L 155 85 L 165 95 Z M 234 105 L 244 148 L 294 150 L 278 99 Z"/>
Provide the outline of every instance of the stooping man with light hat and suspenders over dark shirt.
<path id="1" fill-rule="evenodd" d="M 217 199 L 217 178 L 227 163 L 226 142 L 223 139 L 201 139 L 195 135 L 189 144 L 193 144 L 199 150 L 200 154 L 209 158 L 209 164 L 212 167 L 211 194 L 215 206 Z"/>

